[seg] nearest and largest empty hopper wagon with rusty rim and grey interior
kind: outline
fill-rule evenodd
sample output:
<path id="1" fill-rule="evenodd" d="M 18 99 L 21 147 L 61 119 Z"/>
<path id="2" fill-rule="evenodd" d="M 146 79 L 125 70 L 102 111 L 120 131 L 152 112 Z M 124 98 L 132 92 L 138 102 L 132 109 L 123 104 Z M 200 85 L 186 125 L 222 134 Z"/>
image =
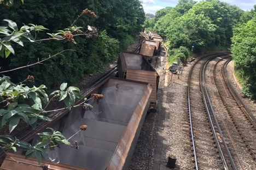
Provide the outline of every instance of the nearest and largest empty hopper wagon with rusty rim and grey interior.
<path id="1" fill-rule="evenodd" d="M 43 161 L 40 165 L 49 170 L 118 170 L 129 167 L 150 104 L 152 87 L 149 83 L 112 77 L 92 93 L 103 94 L 104 98 L 88 100 L 92 109 L 86 109 L 85 105 L 72 108 L 51 126 L 66 138 L 73 136 L 69 139 L 72 146 L 60 145 L 45 155 L 51 161 Z M 81 125 L 88 128 L 79 131 Z M 7 156 L 0 169 L 42 170 L 33 157 L 24 159 L 23 155 L 9 154 L 12 159 Z"/>

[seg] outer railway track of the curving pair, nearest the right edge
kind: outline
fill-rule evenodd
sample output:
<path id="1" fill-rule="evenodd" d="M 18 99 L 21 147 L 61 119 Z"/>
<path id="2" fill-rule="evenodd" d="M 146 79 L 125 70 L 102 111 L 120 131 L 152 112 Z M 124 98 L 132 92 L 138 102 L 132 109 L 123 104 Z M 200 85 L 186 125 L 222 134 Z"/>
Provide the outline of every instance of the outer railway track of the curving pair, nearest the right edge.
<path id="1" fill-rule="evenodd" d="M 216 84 L 214 102 L 217 121 L 222 126 L 223 140 L 228 142 L 238 169 L 255 169 L 255 118 L 227 81 L 226 65 L 230 57 L 219 58 L 214 64 L 210 83 Z M 213 93 L 213 92 L 212 92 Z"/>

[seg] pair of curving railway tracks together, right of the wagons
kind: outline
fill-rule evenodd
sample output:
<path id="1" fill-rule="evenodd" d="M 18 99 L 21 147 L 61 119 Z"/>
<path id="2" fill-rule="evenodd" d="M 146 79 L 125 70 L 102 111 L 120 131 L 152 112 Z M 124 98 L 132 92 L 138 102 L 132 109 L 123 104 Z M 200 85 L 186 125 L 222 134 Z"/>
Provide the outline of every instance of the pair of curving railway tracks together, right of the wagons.
<path id="1" fill-rule="evenodd" d="M 255 117 L 226 75 L 229 53 L 194 61 L 188 78 L 193 169 L 256 169 Z"/>

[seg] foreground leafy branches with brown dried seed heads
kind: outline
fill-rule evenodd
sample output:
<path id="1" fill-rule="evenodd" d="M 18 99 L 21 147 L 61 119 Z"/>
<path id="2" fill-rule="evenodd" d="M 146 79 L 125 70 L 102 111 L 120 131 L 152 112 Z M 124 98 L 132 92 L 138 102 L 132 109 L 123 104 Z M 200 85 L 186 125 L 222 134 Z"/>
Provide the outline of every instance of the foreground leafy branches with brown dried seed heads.
<path id="1" fill-rule="evenodd" d="M 24 1 L 21 0 L 21 2 L 23 3 Z M 13 0 L 0 0 L 0 5 L 1 4 L 11 6 L 13 5 Z M 37 43 L 48 40 L 67 40 L 75 44 L 74 37 L 76 36 L 85 35 L 86 38 L 98 37 L 96 28 L 88 26 L 86 30 L 83 31 L 83 27 L 74 25 L 74 23 L 77 22 L 77 20 L 83 15 L 89 15 L 92 18 L 97 18 L 95 13 L 85 9 L 82 11 L 82 14 L 80 14 L 77 19 L 74 20 L 71 27 L 59 30 L 56 33 L 46 33 L 45 35 L 47 35 L 48 38 L 43 39 L 37 39 L 37 34 L 39 32 L 48 30 L 44 26 L 30 23 L 18 28 L 16 22 L 5 19 L 3 21 L 7 23 L 7 26 L 0 26 L 0 56 L 7 58 L 10 56 L 10 54 L 15 54 L 13 43 L 24 46 L 25 42 Z M 38 59 L 36 63 L 27 64 L 11 70 L 1 71 L 0 73 L 23 69 L 36 64 L 42 64 L 45 62 L 45 60 L 62 54 L 65 51 L 73 50 L 63 50 L 52 56 L 50 55 L 48 58 L 43 60 Z M 74 106 L 77 99 L 84 98 L 84 96 L 80 94 L 79 88 L 74 86 L 67 87 L 67 83 L 62 83 L 60 90 L 55 90 L 53 93 L 48 95 L 45 92 L 46 87 L 43 84 L 39 87 L 28 87 L 23 84 L 25 81 L 33 82 L 34 77 L 29 75 L 26 80 L 19 84 L 11 82 L 10 77 L 8 76 L 0 77 L 0 127 L 5 125 L 9 126 L 9 133 L 7 135 L 0 136 L 0 148 L 3 149 L 6 154 L 8 154 L 8 150 L 16 152 L 18 149 L 23 149 L 26 151 L 25 158 L 30 157 L 33 154 L 36 156 L 38 164 L 40 164 L 40 161 L 45 159 L 48 149 L 53 150 L 54 147 L 59 147 L 60 144 L 71 145 L 68 140 L 81 130 L 86 130 L 87 126 L 80 126 L 79 131 L 68 139 L 66 139 L 61 132 L 55 131 L 49 127 L 48 129 L 50 132 L 42 132 L 37 134 L 41 138 L 41 141 L 37 141 L 34 145 L 31 145 L 25 141 L 20 141 L 18 138 L 11 136 L 10 133 L 14 131 L 21 120 L 27 125 L 30 125 L 33 129 L 36 129 L 39 119 L 51 121 L 51 119 L 46 117 L 44 113 L 49 112 L 45 111 L 45 108 L 53 99 L 57 99 L 65 103 L 67 107 L 61 108 L 62 110 L 67 108 L 71 110 L 72 107 L 84 106 L 87 99 L 85 99 L 82 104 Z M 51 96 L 50 100 L 49 96 Z M 92 108 L 92 106 L 90 108 Z"/>

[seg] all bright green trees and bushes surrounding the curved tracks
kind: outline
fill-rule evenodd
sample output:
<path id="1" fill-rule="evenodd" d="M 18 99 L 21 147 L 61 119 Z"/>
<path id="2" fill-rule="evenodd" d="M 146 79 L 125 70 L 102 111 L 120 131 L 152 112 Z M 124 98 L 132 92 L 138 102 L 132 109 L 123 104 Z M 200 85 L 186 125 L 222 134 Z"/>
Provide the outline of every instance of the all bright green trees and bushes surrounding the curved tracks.
<path id="1" fill-rule="evenodd" d="M 144 26 L 148 31 L 153 30 L 167 39 L 170 64 L 176 62 L 177 57 L 187 59 L 187 52 L 231 48 L 235 68 L 241 82 L 244 82 L 242 92 L 256 99 L 254 13 L 255 10 L 243 11 L 218 0 L 179 0 L 176 7 L 157 11 L 155 17 L 147 20 Z M 181 47 L 187 50 L 181 51 Z"/>

